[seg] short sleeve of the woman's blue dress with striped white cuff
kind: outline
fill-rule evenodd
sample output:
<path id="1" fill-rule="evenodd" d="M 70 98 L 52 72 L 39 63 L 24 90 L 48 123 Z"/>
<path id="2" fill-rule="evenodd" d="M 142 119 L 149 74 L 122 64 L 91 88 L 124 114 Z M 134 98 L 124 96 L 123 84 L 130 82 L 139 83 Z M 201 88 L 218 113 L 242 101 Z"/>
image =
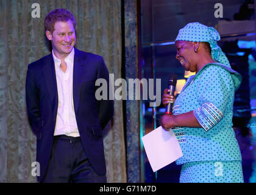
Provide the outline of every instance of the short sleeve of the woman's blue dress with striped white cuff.
<path id="1" fill-rule="evenodd" d="M 230 95 L 234 93 L 229 71 L 219 66 L 208 66 L 198 77 L 196 94 L 200 107 L 194 116 L 205 131 L 212 129 L 224 116 Z"/>

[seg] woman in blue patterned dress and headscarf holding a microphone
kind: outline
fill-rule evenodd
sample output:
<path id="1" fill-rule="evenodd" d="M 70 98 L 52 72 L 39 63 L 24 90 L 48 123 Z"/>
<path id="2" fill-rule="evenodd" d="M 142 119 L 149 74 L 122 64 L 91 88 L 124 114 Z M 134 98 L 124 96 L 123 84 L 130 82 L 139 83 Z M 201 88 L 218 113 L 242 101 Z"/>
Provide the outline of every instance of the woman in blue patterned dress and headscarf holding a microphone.
<path id="1" fill-rule="evenodd" d="M 176 59 L 187 71 L 173 115 L 163 115 L 162 127 L 173 129 L 183 157 L 180 182 L 243 182 L 241 152 L 232 129 L 235 90 L 241 75 L 234 71 L 219 48 L 220 36 L 213 27 L 189 23 L 179 30 Z M 164 91 L 163 105 L 173 100 Z"/>

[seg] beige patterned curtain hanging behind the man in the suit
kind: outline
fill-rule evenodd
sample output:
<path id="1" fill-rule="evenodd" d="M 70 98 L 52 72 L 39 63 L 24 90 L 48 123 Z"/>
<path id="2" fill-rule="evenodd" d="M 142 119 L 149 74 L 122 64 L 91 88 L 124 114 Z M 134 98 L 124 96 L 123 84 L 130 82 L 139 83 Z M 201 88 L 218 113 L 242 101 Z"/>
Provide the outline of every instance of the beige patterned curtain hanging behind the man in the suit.
<path id="1" fill-rule="evenodd" d="M 32 18 L 29 0 L 0 1 L 0 182 L 36 182 L 36 139 L 27 121 L 27 65 L 49 50 L 44 40 L 44 17 L 57 8 L 76 16 L 77 44 L 82 51 L 102 55 L 110 73 L 121 78 L 121 1 L 37 0 L 40 18 Z M 108 182 L 126 182 L 123 108 L 115 101 L 115 117 L 104 135 Z"/>

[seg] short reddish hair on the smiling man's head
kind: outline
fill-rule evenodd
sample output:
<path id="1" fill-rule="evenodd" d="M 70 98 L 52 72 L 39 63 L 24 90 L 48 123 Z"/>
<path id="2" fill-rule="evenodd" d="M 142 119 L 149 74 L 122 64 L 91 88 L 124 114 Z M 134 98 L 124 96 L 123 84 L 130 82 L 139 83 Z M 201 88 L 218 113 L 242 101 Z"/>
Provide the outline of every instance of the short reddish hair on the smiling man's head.
<path id="1" fill-rule="evenodd" d="M 71 12 L 65 9 L 52 10 L 44 18 L 44 29 L 45 31 L 49 30 L 52 34 L 54 32 L 54 24 L 56 22 L 66 22 L 69 21 L 69 19 L 73 23 L 74 29 L 76 29 L 76 18 L 73 16 Z"/>

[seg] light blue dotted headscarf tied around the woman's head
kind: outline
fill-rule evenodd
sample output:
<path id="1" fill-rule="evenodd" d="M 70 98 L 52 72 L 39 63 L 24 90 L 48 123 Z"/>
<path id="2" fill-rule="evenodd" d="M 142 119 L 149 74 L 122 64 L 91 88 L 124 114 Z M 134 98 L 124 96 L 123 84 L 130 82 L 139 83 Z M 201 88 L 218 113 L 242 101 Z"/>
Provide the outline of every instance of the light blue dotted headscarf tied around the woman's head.
<path id="1" fill-rule="evenodd" d="M 175 41 L 208 42 L 212 49 L 212 59 L 231 68 L 229 60 L 217 44 L 219 40 L 221 40 L 221 37 L 213 27 L 208 27 L 201 23 L 188 23 L 183 29 L 179 30 Z"/>

